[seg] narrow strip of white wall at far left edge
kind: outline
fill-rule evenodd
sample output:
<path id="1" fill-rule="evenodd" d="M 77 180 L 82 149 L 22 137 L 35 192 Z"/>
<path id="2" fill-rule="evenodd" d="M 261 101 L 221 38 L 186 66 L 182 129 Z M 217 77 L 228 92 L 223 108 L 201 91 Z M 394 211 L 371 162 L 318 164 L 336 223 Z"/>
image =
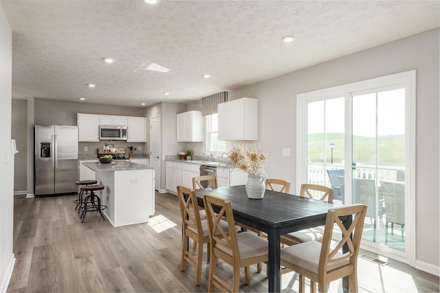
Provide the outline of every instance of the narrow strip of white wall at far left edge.
<path id="1" fill-rule="evenodd" d="M 12 32 L 0 5 L 0 292 L 5 292 L 12 270 L 14 215 L 14 157 L 11 141 Z"/>

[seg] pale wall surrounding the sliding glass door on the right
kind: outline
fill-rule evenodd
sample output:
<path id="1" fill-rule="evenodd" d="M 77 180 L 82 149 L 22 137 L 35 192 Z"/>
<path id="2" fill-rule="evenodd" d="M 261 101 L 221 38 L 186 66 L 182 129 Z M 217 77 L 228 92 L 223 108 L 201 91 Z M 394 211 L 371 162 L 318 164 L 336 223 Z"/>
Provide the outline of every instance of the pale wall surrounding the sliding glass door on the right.
<path id="1" fill-rule="evenodd" d="M 259 141 L 272 156 L 267 173 L 296 186 L 296 95 L 331 86 L 417 71 L 416 259 L 439 271 L 439 36 L 430 30 L 228 93 L 259 99 Z M 291 148 L 292 156 L 281 156 Z"/>

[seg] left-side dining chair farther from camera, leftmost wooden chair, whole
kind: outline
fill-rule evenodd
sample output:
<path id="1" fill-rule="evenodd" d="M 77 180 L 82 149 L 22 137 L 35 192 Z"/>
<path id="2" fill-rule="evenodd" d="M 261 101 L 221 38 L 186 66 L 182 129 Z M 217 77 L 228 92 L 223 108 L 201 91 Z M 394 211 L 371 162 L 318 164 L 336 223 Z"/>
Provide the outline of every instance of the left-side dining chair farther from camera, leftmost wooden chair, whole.
<path id="1" fill-rule="evenodd" d="M 186 196 L 187 197 L 186 197 Z M 207 244 L 208 260 L 210 259 L 210 236 L 208 222 L 200 219 L 199 207 L 197 204 L 197 196 L 194 189 L 184 186 L 177 186 L 177 197 L 179 198 L 179 206 L 181 213 L 181 260 L 180 270 L 186 269 L 186 263 L 195 267 L 195 285 L 200 285 L 201 280 L 201 261 L 203 257 L 203 244 Z M 219 226 L 228 227 L 225 221 L 219 222 Z M 192 239 L 198 245 L 196 253 L 193 255 L 188 250 L 188 240 Z"/>

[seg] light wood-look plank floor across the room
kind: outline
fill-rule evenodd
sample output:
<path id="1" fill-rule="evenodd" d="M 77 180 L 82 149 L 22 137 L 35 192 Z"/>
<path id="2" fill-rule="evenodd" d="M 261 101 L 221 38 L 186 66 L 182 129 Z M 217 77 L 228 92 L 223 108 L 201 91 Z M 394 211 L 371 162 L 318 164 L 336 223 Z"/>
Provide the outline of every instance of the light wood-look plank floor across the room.
<path id="1" fill-rule="evenodd" d="M 177 197 L 157 192 L 155 197 L 149 223 L 114 228 L 98 213 L 88 213 L 81 223 L 74 210 L 76 196 L 15 196 L 17 261 L 8 292 L 206 292 L 207 261 L 200 286 L 194 285 L 192 266 L 179 270 Z M 218 267 L 224 274 L 232 272 L 224 263 Z M 241 291 L 267 292 L 265 268 L 257 273 L 253 266 L 251 275 L 250 285 L 242 279 Z M 283 292 L 298 291 L 293 276 L 283 275 Z M 358 276 L 360 292 L 439 292 L 439 277 L 392 260 L 380 266 L 360 259 Z M 342 292 L 341 283 L 331 283 L 329 292 Z"/>

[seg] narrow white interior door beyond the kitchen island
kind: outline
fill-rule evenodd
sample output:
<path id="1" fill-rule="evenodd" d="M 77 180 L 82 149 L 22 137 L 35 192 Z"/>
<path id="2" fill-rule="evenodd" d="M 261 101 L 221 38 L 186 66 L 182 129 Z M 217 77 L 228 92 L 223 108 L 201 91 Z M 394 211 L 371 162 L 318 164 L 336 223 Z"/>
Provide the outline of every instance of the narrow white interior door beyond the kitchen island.
<path id="1" fill-rule="evenodd" d="M 160 189 L 160 117 L 150 118 L 150 165 L 155 170 L 154 189 Z"/>

